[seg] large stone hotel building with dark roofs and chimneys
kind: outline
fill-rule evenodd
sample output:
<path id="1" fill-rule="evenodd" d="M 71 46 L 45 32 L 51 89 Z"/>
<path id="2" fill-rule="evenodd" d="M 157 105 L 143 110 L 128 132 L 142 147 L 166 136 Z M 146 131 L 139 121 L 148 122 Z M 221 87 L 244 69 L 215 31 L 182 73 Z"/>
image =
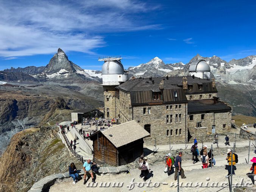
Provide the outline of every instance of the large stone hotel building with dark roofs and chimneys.
<path id="1" fill-rule="evenodd" d="M 120 123 L 135 120 L 144 127 L 148 144 L 206 140 L 231 128 L 232 108 L 217 98 L 214 79 L 195 75 L 132 78 L 112 87 L 106 106 Z"/>

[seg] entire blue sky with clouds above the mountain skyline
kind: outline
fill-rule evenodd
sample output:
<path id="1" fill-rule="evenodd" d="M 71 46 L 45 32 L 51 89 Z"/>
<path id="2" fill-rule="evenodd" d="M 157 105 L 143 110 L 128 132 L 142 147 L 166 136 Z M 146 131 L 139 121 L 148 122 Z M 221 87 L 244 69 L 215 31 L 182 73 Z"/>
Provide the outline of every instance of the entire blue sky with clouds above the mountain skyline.
<path id="1" fill-rule="evenodd" d="M 108 55 L 125 68 L 155 56 L 244 58 L 256 55 L 255 10 L 249 0 L 0 0 L 0 70 L 45 66 L 59 47 L 97 70 Z"/>

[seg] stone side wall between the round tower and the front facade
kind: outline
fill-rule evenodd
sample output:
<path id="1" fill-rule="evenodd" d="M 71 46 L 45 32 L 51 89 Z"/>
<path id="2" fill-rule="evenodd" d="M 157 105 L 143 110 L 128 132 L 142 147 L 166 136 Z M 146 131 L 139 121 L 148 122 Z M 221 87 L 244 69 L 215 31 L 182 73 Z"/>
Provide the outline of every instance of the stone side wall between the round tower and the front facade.
<path id="1" fill-rule="evenodd" d="M 130 93 L 119 92 L 119 98 L 116 98 L 116 114 L 121 123 L 133 120 Z"/>

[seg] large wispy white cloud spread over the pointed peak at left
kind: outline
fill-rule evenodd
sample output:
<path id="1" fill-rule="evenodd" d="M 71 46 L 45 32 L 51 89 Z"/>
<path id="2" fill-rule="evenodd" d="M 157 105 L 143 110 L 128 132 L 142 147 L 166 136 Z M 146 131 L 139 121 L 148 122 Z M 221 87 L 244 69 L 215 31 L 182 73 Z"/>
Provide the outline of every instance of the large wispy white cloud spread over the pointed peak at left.
<path id="1" fill-rule="evenodd" d="M 161 28 L 136 19 L 157 8 L 135 0 L 0 1 L 0 57 L 51 54 L 58 47 L 94 54 L 106 46 L 105 33 Z"/>

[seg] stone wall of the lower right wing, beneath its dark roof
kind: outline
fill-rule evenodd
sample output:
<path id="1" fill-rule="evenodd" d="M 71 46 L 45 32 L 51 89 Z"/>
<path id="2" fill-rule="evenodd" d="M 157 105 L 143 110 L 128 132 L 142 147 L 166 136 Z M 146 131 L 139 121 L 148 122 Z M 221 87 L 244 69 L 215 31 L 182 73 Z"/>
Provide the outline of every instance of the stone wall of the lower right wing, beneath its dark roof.
<path id="1" fill-rule="evenodd" d="M 201 119 L 201 115 L 204 114 L 204 119 Z M 212 134 L 212 125 L 215 124 L 215 133 L 221 134 L 229 132 L 231 129 L 231 112 L 223 113 L 202 113 L 202 114 L 190 114 L 187 116 L 187 127 L 191 137 L 204 138 L 206 141 L 208 136 Z M 190 120 L 190 116 L 193 115 L 193 120 Z M 200 128 L 197 128 L 197 122 L 201 121 Z M 225 124 L 225 127 L 223 125 Z M 193 142 L 189 140 L 189 142 Z"/>

